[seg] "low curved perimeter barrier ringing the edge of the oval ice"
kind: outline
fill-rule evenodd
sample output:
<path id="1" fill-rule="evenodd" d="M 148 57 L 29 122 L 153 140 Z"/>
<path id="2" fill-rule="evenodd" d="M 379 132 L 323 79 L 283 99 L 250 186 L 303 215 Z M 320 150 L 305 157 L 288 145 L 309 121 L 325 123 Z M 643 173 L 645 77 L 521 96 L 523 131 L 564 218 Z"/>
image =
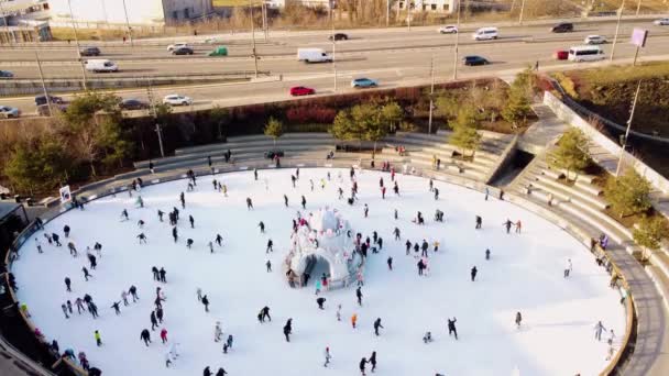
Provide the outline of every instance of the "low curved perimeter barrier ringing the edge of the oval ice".
<path id="1" fill-rule="evenodd" d="M 286 159 L 288 159 L 288 161 L 286 161 Z M 343 161 L 338 161 L 337 158 L 329 159 L 329 161 L 312 161 L 312 159 L 303 161 L 303 159 L 298 159 L 298 158 L 295 158 L 295 159 L 286 158 L 286 159 L 282 161 L 281 168 L 297 168 L 297 167 L 300 167 L 300 168 L 317 168 L 317 167 L 320 167 L 320 168 L 350 168 L 352 166 L 351 159 L 343 159 Z M 380 158 L 380 159 L 382 159 L 382 158 Z M 370 161 L 371 159 L 363 159 L 362 162 L 364 162 L 365 165 L 369 165 Z M 358 166 L 357 164 L 353 164 L 353 166 L 357 168 L 360 168 L 360 166 Z M 409 166 L 409 167 L 412 167 L 412 166 Z M 273 169 L 276 167 L 274 166 L 274 164 L 270 164 L 267 159 L 248 161 L 248 162 L 244 162 L 243 164 L 239 164 L 239 165 L 231 164 L 231 165 L 226 165 L 223 168 L 217 168 L 217 169 L 215 169 L 215 175 L 252 170 L 253 168 Z M 380 168 L 375 168 L 375 170 L 380 170 Z M 458 177 L 458 176 L 453 176 L 453 175 L 449 175 L 449 174 L 442 174 L 438 170 L 425 169 L 425 168 L 416 168 L 415 170 L 414 170 L 414 168 L 409 168 L 409 170 L 415 172 L 413 174 L 414 176 L 434 178 L 436 180 L 441 180 L 441 181 L 445 181 L 448 184 L 453 184 L 453 185 L 458 185 L 458 186 L 461 186 L 464 188 L 476 190 L 482 193 L 485 191 L 485 189 L 487 189 L 491 196 L 498 197 L 500 192 L 501 192 L 501 189 L 487 186 L 483 183 L 474 181 L 474 180 L 471 180 L 468 178 Z M 209 168 L 197 168 L 197 169 L 194 169 L 194 172 L 196 173 L 197 176 L 200 176 L 200 177 L 207 176 L 207 175 L 212 175 L 211 170 Z M 143 187 L 175 181 L 175 180 L 182 180 L 182 179 L 186 179 L 186 178 L 187 178 L 187 176 L 186 176 L 185 172 L 179 172 L 179 173 L 175 172 L 174 175 L 144 181 Z M 124 193 L 128 191 L 127 184 L 121 184 L 121 183 L 117 181 L 117 186 L 112 186 L 113 184 L 114 184 L 114 181 L 110 181 L 108 185 L 102 186 L 102 187 L 100 187 L 98 184 L 92 184 L 92 185 L 90 185 L 91 189 L 87 189 L 87 187 L 84 186 L 84 187 L 81 187 L 81 189 L 73 192 L 73 196 L 76 196 L 80 202 L 86 203 L 86 202 L 90 202 L 90 201 L 94 201 L 99 198 L 103 198 L 103 197 L 108 197 L 108 196 L 116 196 L 116 195 Z M 110 186 L 112 186 L 112 187 L 110 187 Z M 514 203 L 518 207 L 522 207 L 522 208 L 544 218 L 545 220 L 556 224 L 560 229 L 568 232 L 571 236 L 573 236 L 574 239 L 580 241 L 586 248 L 590 248 L 591 236 L 588 235 L 588 233 L 585 231 L 583 231 L 579 226 L 572 224 L 570 221 L 564 219 L 562 215 L 560 215 L 553 211 L 550 211 L 549 209 L 542 208 L 540 204 L 531 202 L 531 201 L 523 198 L 522 196 L 518 196 L 515 193 L 504 191 L 504 200 L 508 201 L 511 203 Z M 43 219 L 44 223 L 46 224 L 48 221 L 68 212 L 69 210 L 73 210 L 73 209 L 74 208 L 72 207 L 72 204 L 62 204 L 62 206 L 56 207 L 53 210 L 46 212 L 44 215 L 42 215 L 42 219 Z M 33 234 L 35 234 L 37 231 L 40 231 L 40 229 L 37 229 L 37 226 L 35 225 L 34 222 L 32 222 L 17 237 L 17 240 L 12 244 L 12 247 L 10 248 L 10 252 L 8 252 L 6 261 L 4 261 L 8 270 L 11 270 L 12 263 L 20 257 L 19 251 L 21 250 L 21 246 L 31 236 L 33 236 Z M 627 360 L 627 357 L 634 352 L 634 341 L 636 338 L 636 327 L 637 327 L 636 307 L 635 307 L 634 297 L 633 297 L 632 290 L 629 289 L 627 279 L 625 278 L 625 275 L 621 272 L 621 269 L 615 265 L 614 261 L 610 257 L 610 255 L 606 252 L 604 252 L 601 248 L 596 248 L 594 253 L 597 256 L 605 257 L 606 261 L 612 265 L 612 273 L 616 273 L 616 275 L 618 276 L 617 287 L 621 289 L 625 289 L 625 291 L 623 294 L 626 294 L 626 297 L 627 297 L 624 300 L 625 313 L 626 313 L 625 335 L 623 336 L 621 347 L 617 350 L 615 355 L 610 361 L 608 366 L 606 368 L 604 368 L 600 375 L 618 374 L 618 373 L 621 373 L 622 366 L 625 364 L 625 361 Z M 19 300 L 17 299 L 15 291 L 12 288 L 10 288 L 10 285 L 9 285 L 9 275 L 6 275 L 4 283 L 7 285 L 9 292 L 11 294 L 13 301 L 18 303 Z M 28 318 L 24 314 L 24 312 L 22 312 L 20 309 L 19 309 L 19 314 L 21 314 L 23 317 L 23 320 L 25 320 L 28 327 L 34 333 L 35 325 L 32 323 L 30 318 Z M 66 346 L 66 349 L 67 349 L 67 346 Z M 76 353 L 76 350 L 75 350 L 75 353 Z M 67 366 L 76 374 L 79 374 L 79 375 L 88 374 L 78 365 L 78 363 L 76 363 L 75 361 L 72 361 L 69 358 L 62 357 L 58 362 L 56 362 L 56 364 L 54 364 L 54 366 L 56 366 L 57 363 L 59 363 L 59 362 L 65 362 L 67 364 Z"/>

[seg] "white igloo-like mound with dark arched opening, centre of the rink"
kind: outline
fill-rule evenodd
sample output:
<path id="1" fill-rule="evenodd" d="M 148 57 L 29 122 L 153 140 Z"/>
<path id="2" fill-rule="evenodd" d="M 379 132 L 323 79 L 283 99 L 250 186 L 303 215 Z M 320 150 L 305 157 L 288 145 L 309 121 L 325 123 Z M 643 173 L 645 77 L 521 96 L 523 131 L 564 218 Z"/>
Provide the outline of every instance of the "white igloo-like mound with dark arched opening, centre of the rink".
<path id="1" fill-rule="evenodd" d="M 329 288 L 348 286 L 363 273 L 364 257 L 355 248 L 355 234 L 340 212 L 325 208 L 297 222 L 285 261 L 292 287 L 303 286 L 319 261 L 328 265 Z"/>

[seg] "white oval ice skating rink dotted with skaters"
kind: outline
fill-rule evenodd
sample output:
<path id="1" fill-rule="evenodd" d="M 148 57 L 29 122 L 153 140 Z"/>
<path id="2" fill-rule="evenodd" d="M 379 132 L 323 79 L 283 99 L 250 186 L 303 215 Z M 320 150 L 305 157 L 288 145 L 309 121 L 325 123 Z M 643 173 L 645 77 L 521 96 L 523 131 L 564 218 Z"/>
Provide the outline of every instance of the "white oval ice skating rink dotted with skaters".
<path id="1" fill-rule="evenodd" d="M 331 180 L 327 179 L 330 172 Z M 186 192 L 186 209 L 182 210 L 179 192 L 186 191 L 187 180 L 144 188 L 141 196 L 145 208 L 136 209 L 136 195 L 128 193 L 96 200 L 85 211 L 73 210 L 46 225 L 46 231 L 61 234 L 63 247 L 46 244 L 40 237 L 43 254 L 34 240 L 21 248 L 14 264 L 20 290 L 19 299 L 28 303 L 32 320 L 46 339 L 56 339 L 61 351 L 84 351 L 91 365 L 103 375 L 201 375 L 206 366 L 216 373 L 224 367 L 229 375 L 359 375 L 360 360 L 377 353 L 376 375 L 596 375 L 607 362 L 608 333 L 594 340 L 594 325 L 602 320 L 613 329 L 619 345 L 625 329 L 624 308 L 619 295 L 608 288 L 610 277 L 594 263 L 590 252 L 569 234 L 524 209 L 500 201 L 484 200 L 480 192 L 436 181 L 439 200 L 428 191 L 428 180 L 397 175 L 401 196 L 393 193 L 390 174 L 363 172 L 358 174 L 359 201 L 349 206 L 338 200 L 337 189 L 350 195 L 347 169 L 301 169 L 297 188 L 290 184 L 294 169 L 242 172 L 215 178 L 228 187 L 228 197 L 213 189 L 212 177 L 201 177 L 193 192 Z M 342 179 L 338 178 L 341 174 Z M 381 199 L 379 179 L 387 187 Z M 314 180 L 311 191 L 309 179 Z M 321 189 L 321 179 L 326 181 Z M 283 195 L 289 198 L 284 207 Z M 300 198 L 307 199 L 301 210 Z M 246 210 L 245 199 L 253 199 L 254 210 Z M 363 206 L 370 207 L 369 218 Z M 322 292 L 325 310 L 316 303 L 314 281 L 303 289 L 290 289 L 282 272 L 282 262 L 289 245 L 292 219 L 298 210 L 309 211 L 330 206 L 342 211 L 353 229 L 365 236 L 377 231 L 383 237 L 380 254 L 370 253 L 365 269 L 363 307 L 358 307 L 355 287 Z M 174 243 L 167 214 L 178 207 L 179 241 Z M 121 221 L 128 209 L 129 221 Z M 399 219 L 393 218 L 397 209 Z M 445 223 L 434 221 L 434 212 L 446 213 Z M 426 225 L 412 223 L 421 211 Z M 195 218 L 190 229 L 188 215 Z M 483 218 L 483 229 L 474 230 L 475 215 Z M 145 222 L 144 230 L 138 221 Z M 523 233 L 512 229 L 506 234 L 503 222 L 523 222 Z M 266 233 L 261 234 L 263 221 Z M 64 239 L 63 226 L 72 228 Z M 395 241 L 393 230 L 402 231 Z M 136 235 L 144 232 L 147 244 L 139 244 Z M 223 236 L 223 246 L 208 243 L 216 234 Z M 193 239 L 191 250 L 186 239 Z M 267 240 L 274 241 L 274 253 L 265 254 Z M 417 258 L 405 254 L 405 242 L 427 240 L 430 243 L 429 275 L 419 277 Z M 73 241 L 79 256 L 67 251 Z M 91 270 L 92 278 L 84 280 L 81 267 L 88 267 L 86 246 L 102 244 L 102 257 Z M 440 243 L 432 253 L 432 243 Z M 492 256 L 486 261 L 485 250 Z M 386 259 L 392 256 L 394 269 Z M 573 272 L 563 278 L 571 258 Z M 266 261 L 273 265 L 267 273 Z M 151 268 L 164 267 L 167 284 L 153 280 Z M 470 269 L 476 266 L 476 280 L 470 280 Z M 73 280 L 73 291 L 66 292 L 64 278 Z M 141 300 L 123 307 L 117 316 L 110 308 L 121 300 L 121 291 L 138 287 Z M 155 290 L 162 286 L 168 341 L 179 343 L 179 358 L 165 367 L 168 345 L 161 343 L 160 329 L 152 332 L 153 343 L 146 347 L 140 332 L 151 329 Z M 201 288 L 210 300 L 206 313 L 196 290 Z M 77 314 L 65 319 L 61 305 L 89 294 L 98 306 L 100 318 Z M 342 321 L 336 319 L 337 306 L 342 306 Z M 271 308 L 272 322 L 261 324 L 256 314 Z M 516 328 L 516 312 L 523 323 Z M 358 314 L 358 328 L 350 318 Z M 458 319 L 459 340 L 449 338 L 447 318 Z M 293 318 L 293 335 L 286 343 L 282 328 Z M 372 323 L 382 319 L 384 329 L 375 336 Z M 223 336 L 234 336 L 233 349 L 222 353 L 222 344 L 213 342 L 213 328 L 220 321 Z M 97 347 L 94 331 L 99 330 L 102 346 Z M 434 342 L 421 339 L 431 331 Z M 332 360 L 323 367 L 326 346 Z M 371 366 L 368 366 L 370 374 Z M 516 371 L 516 372 L 517 372 Z"/>

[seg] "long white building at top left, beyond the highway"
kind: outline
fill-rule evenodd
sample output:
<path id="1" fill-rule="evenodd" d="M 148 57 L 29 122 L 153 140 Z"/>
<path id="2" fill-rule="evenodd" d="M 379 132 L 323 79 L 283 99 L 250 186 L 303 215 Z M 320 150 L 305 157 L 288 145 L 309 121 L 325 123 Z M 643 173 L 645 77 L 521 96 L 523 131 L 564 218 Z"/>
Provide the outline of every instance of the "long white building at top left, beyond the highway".
<path id="1" fill-rule="evenodd" d="M 54 22 L 169 24 L 206 16 L 211 0 L 48 0 Z"/>

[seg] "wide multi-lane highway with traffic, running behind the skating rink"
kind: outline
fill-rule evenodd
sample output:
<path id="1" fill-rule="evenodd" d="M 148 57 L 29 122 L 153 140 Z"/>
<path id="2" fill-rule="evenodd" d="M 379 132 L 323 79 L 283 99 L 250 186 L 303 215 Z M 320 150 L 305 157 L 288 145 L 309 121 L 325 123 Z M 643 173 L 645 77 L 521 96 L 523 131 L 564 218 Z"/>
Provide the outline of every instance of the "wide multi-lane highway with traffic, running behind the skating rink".
<path id="1" fill-rule="evenodd" d="M 649 30 L 647 46 L 640 53 L 640 60 L 651 56 L 669 55 L 669 26 L 652 25 L 650 20 L 635 20 L 621 25 L 615 56 L 628 58 L 634 55 L 629 35 L 634 27 Z M 500 27 L 500 38 L 491 42 L 475 42 L 471 32 L 475 27 L 461 27 L 459 55 L 481 55 L 491 60 L 483 67 L 459 66 L 459 76 L 492 75 L 520 68 L 539 62 L 541 68 L 564 65 L 556 62 L 552 54 L 557 49 L 582 44 L 589 34 L 600 34 L 613 41 L 615 23 L 589 22 L 575 23 L 572 33 L 553 34 L 548 25 Z M 256 49 L 261 57 L 259 68 L 270 71 L 275 78 L 270 81 L 233 85 L 205 85 L 183 88 L 155 89 L 161 97 L 178 91 L 188 95 L 198 104 L 219 103 L 221 106 L 245 102 L 261 102 L 288 98 L 290 86 L 306 85 L 317 92 L 332 93 L 334 89 L 334 70 L 337 70 L 338 91 L 351 90 L 349 82 L 353 77 L 365 76 L 379 79 L 381 87 L 393 87 L 407 84 L 421 84 L 429 80 L 430 59 L 435 58 L 435 75 L 438 80 L 446 80 L 453 75 L 453 56 L 456 35 L 441 35 L 437 27 L 348 31 L 349 41 L 337 42 L 336 64 L 304 64 L 297 62 L 298 47 L 320 47 L 332 51 L 328 32 L 281 33 L 271 35 L 264 42 L 257 34 Z M 95 44 L 102 51 L 102 58 L 119 64 L 120 71 L 105 74 L 103 77 L 151 77 L 178 76 L 184 73 L 220 74 L 224 71 L 253 70 L 250 37 L 244 35 L 221 35 L 221 44 L 229 47 L 228 57 L 207 57 L 213 45 L 193 43 L 194 56 L 172 56 L 166 51 L 168 41 L 150 41 L 131 48 L 129 44 Z M 200 38 L 201 41 L 202 38 Z M 174 40 L 178 41 L 178 40 Z M 608 55 L 612 44 L 605 44 Z M 37 66 L 34 51 L 43 62 L 46 78 L 80 79 L 81 68 L 76 62 L 77 55 L 72 45 L 37 45 L 6 49 L 0 54 L 0 69 L 14 73 L 17 79 L 36 79 Z M 92 76 L 92 75 L 91 75 Z M 120 92 L 122 97 L 143 98 L 145 89 L 129 89 Z M 34 112 L 32 98 L 4 98 L 0 103 L 19 107 L 24 113 Z"/>

